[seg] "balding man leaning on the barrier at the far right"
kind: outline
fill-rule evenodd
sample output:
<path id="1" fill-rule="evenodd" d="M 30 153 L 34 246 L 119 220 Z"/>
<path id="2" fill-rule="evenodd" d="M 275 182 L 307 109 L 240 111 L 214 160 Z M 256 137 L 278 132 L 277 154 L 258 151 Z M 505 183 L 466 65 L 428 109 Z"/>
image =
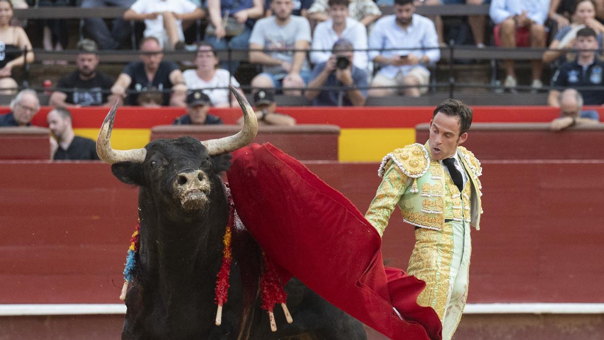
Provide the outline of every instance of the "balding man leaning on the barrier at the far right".
<path id="1" fill-rule="evenodd" d="M 567 88 L 560 94 L 560 117 L 550 123 L 552 131 L 560 131 L 575 125 L 593 125 L 600 123 L 596 111 L 582 111 L 583 97 L 574 88 Z"/>

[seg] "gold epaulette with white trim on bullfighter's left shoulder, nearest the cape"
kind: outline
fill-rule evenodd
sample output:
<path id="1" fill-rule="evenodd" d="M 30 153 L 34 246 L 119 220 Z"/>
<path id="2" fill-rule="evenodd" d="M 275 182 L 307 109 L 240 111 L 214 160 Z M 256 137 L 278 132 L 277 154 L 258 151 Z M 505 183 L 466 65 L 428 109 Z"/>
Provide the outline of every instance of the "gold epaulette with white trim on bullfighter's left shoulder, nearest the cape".
<path id="1" fill-rule="evenodd" d="M 377 174 L 382 177 L 390 160 L 403 174 L 411 178 L 422 177 L 430 167 L 430 155 L 425 146 L 414 143 L 396 149 L 384 156 Z"/>

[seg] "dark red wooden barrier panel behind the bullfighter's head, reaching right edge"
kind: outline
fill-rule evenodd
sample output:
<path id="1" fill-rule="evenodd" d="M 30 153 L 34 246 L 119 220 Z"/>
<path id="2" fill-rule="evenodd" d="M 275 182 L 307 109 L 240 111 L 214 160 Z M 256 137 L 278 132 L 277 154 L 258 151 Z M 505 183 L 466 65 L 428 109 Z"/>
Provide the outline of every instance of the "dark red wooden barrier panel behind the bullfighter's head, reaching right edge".
<path id="1" fill-rule="evenodd" d="M 428 124 L 416 126 L 416 140 L 425 143 Z M 480 160 L 604 160 L 604 124 L 550 131 L 549 123 L 473 123 L 463 143 Z"/>

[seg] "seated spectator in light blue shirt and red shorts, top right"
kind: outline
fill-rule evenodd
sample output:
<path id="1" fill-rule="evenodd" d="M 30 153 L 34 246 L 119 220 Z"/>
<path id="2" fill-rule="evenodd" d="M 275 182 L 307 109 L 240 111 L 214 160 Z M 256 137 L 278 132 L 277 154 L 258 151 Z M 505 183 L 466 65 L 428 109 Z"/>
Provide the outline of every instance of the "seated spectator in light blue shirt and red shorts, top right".
<path id="1" fill-rule="evenodd" d="M 495 45 L 507 48 L 536 47 L 544 48 L 547 40 L 545 32 L 545 19 L 549 10 L 550 0 L 492 0 L 489 13 L 495 22 Z M 513 89 L 518 85 L 514 60 L 504 60 L 506 80 L 504 87 Z M 543 87 L 541 82 L 542 61 L 531 60 L 531 87 Z"/>

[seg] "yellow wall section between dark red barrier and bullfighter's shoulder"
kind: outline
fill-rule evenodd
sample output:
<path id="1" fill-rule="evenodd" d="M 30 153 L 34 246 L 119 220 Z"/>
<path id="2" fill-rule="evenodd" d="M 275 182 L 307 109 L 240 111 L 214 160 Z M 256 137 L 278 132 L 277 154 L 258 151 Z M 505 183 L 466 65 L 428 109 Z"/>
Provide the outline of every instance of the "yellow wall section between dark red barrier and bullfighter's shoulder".
<path id="1" fill-rule="evenodd" d="M 341 129 L 339 160 L 379 162 L 388 152 L 414 142 L 414 128 Z"/>

